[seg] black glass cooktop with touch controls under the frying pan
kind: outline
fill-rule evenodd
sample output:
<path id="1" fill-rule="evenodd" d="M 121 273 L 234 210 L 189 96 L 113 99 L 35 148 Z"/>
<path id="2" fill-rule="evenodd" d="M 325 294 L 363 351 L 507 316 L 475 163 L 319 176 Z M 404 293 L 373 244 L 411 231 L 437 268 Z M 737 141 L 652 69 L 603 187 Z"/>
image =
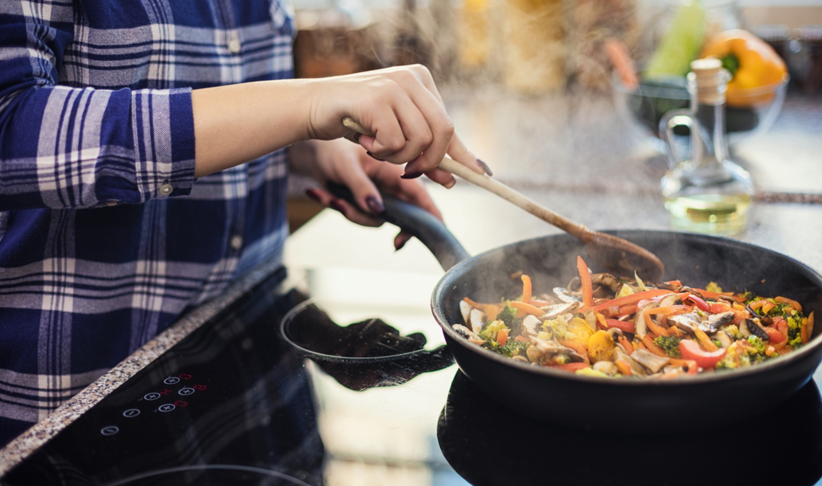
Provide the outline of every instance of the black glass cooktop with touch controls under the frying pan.
<path id="1" fill-rule="evenodd" d="M 734 410 L 694 410 L 692 417 L 659 410 L 653 431 L 593 433 L 498 405 L 459 372 L 444 346 L 427 346 L 433 336 L 403 335 L 378 318 L 338 326 L 302 294 L 279 294 L 282 278 L 271 275 L 181 340 L 0 484 L 315 486 L 326 484 L 329 468 L 338 478 L 329 486 L 399 484 L 388 470 L 411 471 L 402 484 L 431 486 L 774 486 L 822 477 L 822 400 L 813 381 L 742 423 L 728 424 Z M 333 393 L 318 397 L 329 386 Z M 438 424 L 436 412 L 431 418 L 432 455 L 414 462 L 342 451 L 321 426 L 344 407 L 332 400 L 339 393 L 361 400 L 365 415 L 390 409 L 389 444 L 408 442 L 401 426 L 418 420 L 408 411 L 414 404 L 441 410 Z M 410 405 L 394 414 L 390 396 Z M 601 408 L 607 413 L 608 404 Z M 716 427 L 666 432 L 667 422 L 688 419 Z M 378 440 L 349 425 L 349 442 Z M 381 480 L 353 479 L 351 471 L 376 463 Z"/>

